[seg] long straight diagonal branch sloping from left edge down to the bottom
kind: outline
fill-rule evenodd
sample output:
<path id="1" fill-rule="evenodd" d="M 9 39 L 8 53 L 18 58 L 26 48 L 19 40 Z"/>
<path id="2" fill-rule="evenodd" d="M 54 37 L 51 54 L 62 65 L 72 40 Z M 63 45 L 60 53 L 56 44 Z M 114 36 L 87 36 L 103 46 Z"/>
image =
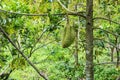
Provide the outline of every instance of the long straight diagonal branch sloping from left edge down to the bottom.
<path id="1" fill-rule="evenodd" d="M 24 55 L 24 53 L 15 45 L 15 43 L 9 38 L 8 34 L 0 26 L 0 32 L 5 36 L 5 38 L 18 50 L 18 52 L 25 58 L 25 60 L 36 70 L 36 72 L 45 80 L 48 80 L 45 75 L 43 75 L 39 69 Z"/>

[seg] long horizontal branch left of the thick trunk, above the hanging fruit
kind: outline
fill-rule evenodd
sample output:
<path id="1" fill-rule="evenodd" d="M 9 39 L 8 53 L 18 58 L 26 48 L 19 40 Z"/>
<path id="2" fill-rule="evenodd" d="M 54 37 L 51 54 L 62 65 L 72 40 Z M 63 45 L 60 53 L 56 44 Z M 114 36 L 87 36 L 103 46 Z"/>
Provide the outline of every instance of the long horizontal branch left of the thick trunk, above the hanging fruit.
<path id="1" fill-rule="evenodd" d="M 16 14 L 16 15 L 21 15 L 21 16 L 48 16 L 47 13 L 45 13 L 45 14 L 29 14 L 29 13 L 11 12 L 11 11 L 6 11 L 6 10 L 2 10 L 2 9 L 0 9 L 0 13 Z M 66 15 L 66 14 L 68 14 L 68 15 L 74 15 L 74 16 L 81 16 L 83 18 L 86 18 L 83 15 L 83 12 L 78 12 L 78 13 L 57 13 L 57 14 L 51 14 L 51 15 L 62 16 L 62 15 Z"/>

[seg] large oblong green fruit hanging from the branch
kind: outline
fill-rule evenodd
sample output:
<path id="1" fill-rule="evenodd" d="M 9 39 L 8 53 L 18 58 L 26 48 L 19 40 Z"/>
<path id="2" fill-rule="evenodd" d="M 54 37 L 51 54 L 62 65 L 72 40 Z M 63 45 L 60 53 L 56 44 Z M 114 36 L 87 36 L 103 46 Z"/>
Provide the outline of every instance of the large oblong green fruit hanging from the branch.
<path id="1" fill-rule="evenodd" d="M 75 30 L 73 26 L 67 25 L 64 28 L 63 32 L 63 39 L 62 39 L 62 47 L 67 48 L 69 47 L 75 39 Z"/>

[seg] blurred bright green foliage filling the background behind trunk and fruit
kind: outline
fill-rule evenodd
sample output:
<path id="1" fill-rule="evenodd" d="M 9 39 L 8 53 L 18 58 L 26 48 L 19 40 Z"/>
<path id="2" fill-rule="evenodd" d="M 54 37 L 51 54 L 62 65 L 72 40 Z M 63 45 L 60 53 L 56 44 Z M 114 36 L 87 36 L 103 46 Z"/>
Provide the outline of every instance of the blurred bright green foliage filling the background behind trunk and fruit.
<path id="1" fill-rule="evenodd" d="M 61 2 L 70 11 L 85 12 L 86 0 L 61 0 Z M 95 64 L 104 61 L 110 62 L 111 48 L 116 48 L 116 44 L 120 43 L 120 25 L 110 21 L 119 22 L 119 4 L 119 0 L 94 0 L 94 18 L 105 17 L 108 19 L 94 20 Z M 78 5 L 77 10 L 75 10 L 75 5 Z M 65 49 L 61 46 L 61 34 L 63 27 L 66 26 L 64 13 L 68 12 L 56 0 L 0 0 L 0 9 L 17 13 L 0 10 L 0 27 L 50 80 L 76 80 L 76 78 L 84 79 L 86 77 L 86 21 L 84 18 L 70 15 L 70 25 L 75 23 L 79 26 L 79 64 L 76 66 L 75 44 L 73 43 Z M 26 13 L 27 16 L 20 13 Z M 47 14 L 47 16 L 28 16 L 28 14 Z M 116 53 L 114 52 L 113 55 L 114 61 L 117 58 Z M 5 73 L 13 70 L 8 80 L 42 80 L 8 40 L 0 34 L 0 73 L 4 72 L 7 65 L 9 68 L 5 70 Z M 95 65 L 95 80 L 115 80 L 120 75 L 119 67 L 115 66 Z"/>

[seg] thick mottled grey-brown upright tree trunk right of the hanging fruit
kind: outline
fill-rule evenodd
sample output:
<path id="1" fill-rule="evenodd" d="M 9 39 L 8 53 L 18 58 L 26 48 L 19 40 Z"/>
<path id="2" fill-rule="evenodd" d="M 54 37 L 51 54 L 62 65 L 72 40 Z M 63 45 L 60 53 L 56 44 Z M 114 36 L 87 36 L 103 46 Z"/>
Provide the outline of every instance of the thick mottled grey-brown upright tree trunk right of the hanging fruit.
<path id="1" fill-rule="evenodd" d="M 86 80 L 94 80 L 93 72 L 93 0 L 86 7 Z"/>

